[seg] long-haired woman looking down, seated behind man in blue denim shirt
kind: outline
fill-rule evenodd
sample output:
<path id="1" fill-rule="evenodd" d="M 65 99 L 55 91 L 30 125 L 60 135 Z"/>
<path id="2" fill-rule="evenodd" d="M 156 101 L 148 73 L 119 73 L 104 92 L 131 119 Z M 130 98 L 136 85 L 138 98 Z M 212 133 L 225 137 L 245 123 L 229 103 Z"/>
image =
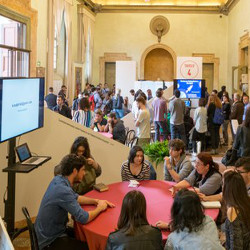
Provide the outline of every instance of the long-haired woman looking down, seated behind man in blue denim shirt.
<path id="1" fill-rule="evenodd" d="M 91 156 L 89 143 L 87 138 L 79 136 L 75 139 L 71 150 L 71 154 L 84 156 L 87 164 L 85 166 L 85 175 L 83 180 L 74 186 L 74 191 L 80 195 L 86 194 L 93 189 L 96 183 L 96 178 L 101 175 L 102 169 L 100 165 Z"/>

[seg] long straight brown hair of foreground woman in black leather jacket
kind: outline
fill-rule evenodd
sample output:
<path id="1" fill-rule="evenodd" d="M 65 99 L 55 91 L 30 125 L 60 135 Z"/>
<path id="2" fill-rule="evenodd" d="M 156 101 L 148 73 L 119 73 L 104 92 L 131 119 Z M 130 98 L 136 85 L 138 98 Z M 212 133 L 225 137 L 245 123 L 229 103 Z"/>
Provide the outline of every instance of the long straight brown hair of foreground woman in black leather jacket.
<path id="1" fill-rule="evenodd" d="M 148 225 L 146 199 L 140 191 L 128 192 L 122 202 L 117 227 L 126 235 L 134 235 L 142 225 Z"/>

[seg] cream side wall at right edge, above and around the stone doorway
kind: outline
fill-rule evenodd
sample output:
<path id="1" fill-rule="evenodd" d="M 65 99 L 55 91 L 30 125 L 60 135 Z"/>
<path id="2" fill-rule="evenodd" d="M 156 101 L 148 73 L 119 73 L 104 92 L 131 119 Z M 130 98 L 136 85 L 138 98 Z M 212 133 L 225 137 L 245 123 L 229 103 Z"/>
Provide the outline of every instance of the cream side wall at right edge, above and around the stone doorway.
<path id="1" fill-rule="evenodd" d="M 231 90 L 232 67 L 239 64 L 240 37 L 250 32 L 250 1 L 240 0 L 228 16 L 228 85 Z M 248 52 L 249 53 L 249 52 Z M 250 65 L 248 64 L 248 67 Z M 249 88 L 250 94 L 250 88 Z"/>

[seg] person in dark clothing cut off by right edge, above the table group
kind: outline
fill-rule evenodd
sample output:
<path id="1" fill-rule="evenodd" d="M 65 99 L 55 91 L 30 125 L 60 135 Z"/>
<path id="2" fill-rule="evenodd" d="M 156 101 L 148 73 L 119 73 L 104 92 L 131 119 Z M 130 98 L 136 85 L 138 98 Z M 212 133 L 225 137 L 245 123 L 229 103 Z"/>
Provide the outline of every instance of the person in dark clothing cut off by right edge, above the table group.
<path id="1" fill-rule="evenodd" d="M 237 129 L 233 149 L 238 150 L 239 157 L 250 156 L 250 107 L 246 111 L 245 120 Z"/>

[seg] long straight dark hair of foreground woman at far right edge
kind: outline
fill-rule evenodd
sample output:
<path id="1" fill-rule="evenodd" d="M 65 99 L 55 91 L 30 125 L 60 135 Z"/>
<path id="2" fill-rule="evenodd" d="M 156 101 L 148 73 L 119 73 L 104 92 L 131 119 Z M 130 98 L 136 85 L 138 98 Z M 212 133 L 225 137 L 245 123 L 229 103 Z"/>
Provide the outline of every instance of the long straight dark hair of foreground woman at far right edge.
<path id="1" fill-rule="evenodd" d="M 224 174 L 223 199 L 227 207 L 234 207 L 237 215 L 250 231 L 250 198 L 241 174 L 228 171 Z"/>

